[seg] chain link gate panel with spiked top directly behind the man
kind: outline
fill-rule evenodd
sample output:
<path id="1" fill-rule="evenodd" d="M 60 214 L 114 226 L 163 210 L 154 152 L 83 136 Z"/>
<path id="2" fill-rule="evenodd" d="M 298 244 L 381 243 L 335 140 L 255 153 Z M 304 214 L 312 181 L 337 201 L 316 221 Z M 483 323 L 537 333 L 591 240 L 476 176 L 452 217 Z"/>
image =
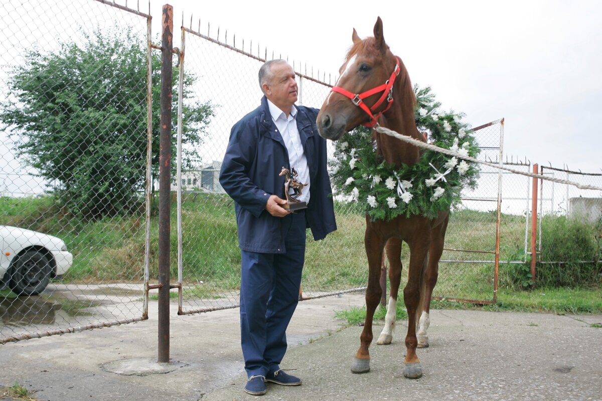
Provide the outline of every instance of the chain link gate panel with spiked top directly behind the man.
<path id="1" fill-rule="evenodd" d="M 211 37 L 209 29 L 201 33 L 199 28 L 182 28 L 184 76 L 194 77 L 194 84 L 187 90 L 194 93 L 197 102 L 211 102 L 214 117 L 208 136 L 198 148 L 202 157 L 199 165 L 179 172 L 172 186 L 181 199 L 181 313 L 238 305 L 240 250 L 234 203 L 219 185 L 219 168 L 231 127 L 259 106 L 263 94 L 257 73 L 267 56 L 265 49 L 263 54 L 253 52 L 252 43 L 240 41 L 236 47 L 233 38 L 228 43 L 227 37 L 220 41 L 219 34 Z M 298 103 L 320 108 L 329 85 L 300 72 L 299 65 L 294 67 Z M 364 219 L 350 214 L 350 205 L 337 207 L 337 232 L 319 242 L 314 242 L 308 232 L 302 278 L 304 299 L 357 289 L 367 281 Z"/>

